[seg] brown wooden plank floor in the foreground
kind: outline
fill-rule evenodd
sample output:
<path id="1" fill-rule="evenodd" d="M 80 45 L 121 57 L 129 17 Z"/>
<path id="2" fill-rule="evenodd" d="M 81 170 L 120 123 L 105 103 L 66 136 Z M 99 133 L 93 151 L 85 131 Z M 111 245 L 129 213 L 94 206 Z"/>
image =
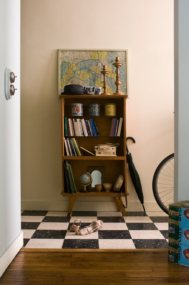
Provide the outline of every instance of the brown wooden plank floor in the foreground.
<path id="1" fill-rule="evenodd" d="M 0 284 L 189 284 L 189 267 L 167 260 L 167 249 L 21 249 L 2 275 Z"/>

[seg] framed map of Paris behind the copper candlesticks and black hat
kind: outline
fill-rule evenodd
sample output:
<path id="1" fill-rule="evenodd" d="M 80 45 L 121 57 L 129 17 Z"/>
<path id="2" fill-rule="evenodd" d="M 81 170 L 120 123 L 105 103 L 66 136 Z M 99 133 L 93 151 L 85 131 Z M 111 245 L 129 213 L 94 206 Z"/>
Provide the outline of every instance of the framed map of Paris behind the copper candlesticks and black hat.
<path id="1" fill-rule="evenodd" d="M 128 95 L 128 50 L 58 50 L 58 96 L 63 92 L 65 85 L 78 84 L 90 87 L 93 94 L 99 94 L 104 83 L 103 66 L 107 67 L 107 92 L 116 92 L 116 57 L 119 57 L 122 66 L 119 68 L 121 81 L 120 91 Z M 86 88 L 85 88 L 86 89 Z M 129 98 L 129 96 L 128 96 Z"/>

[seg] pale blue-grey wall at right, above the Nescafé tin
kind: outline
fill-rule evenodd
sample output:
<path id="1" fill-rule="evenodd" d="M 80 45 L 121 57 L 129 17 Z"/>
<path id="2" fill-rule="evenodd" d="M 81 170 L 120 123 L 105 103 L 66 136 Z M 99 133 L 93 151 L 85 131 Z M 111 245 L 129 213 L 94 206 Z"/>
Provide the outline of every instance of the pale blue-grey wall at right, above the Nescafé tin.
<path id="1" fill-rule="evenodd" d="M 189 2 L 175 1 L 175 201 L 189 200 Z"/>

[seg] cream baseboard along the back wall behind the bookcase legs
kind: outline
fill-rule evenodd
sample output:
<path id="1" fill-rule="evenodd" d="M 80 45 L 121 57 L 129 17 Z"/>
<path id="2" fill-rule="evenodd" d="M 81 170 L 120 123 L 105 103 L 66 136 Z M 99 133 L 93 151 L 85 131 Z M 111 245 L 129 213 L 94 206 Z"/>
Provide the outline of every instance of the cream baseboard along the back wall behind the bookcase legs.
<path id="1" fill-rule="evenodd" d="M 95 198 L 95 197 L 94 197 Z M 99 197 L 97 197 L 99 198 Z M 124 197 L 122 198 L 125 203 Z M 70 198 L 63 197 L 62 201 L 21 201 L 22 210 L 30 211 L 67 211 Z M 146 212 L 159 212 L 162 211 L 156 202 L 144 202 Z M 114 201 L 79 201 L 76 198 L 73 211 L 112 211 L 117 212 L 117 207 Z M 128 201 L 126 212 L 143 212 L 143 207 L 139 201 Z"/>

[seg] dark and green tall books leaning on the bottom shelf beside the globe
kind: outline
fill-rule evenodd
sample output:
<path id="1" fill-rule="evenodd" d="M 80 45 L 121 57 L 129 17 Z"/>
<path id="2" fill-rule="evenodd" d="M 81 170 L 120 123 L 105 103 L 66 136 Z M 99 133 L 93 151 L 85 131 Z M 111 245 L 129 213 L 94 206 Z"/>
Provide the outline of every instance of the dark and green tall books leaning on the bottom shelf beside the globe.
<path id="1" fill-rule="evenodd" d="M 68 160 L 64 162 L 64 173 L 65 173 L 65 180 L 66 185 L 64 190 L 66 193 L 77 193 L 76 185 L 74 182 L 74 175 L 72 171 L 72 166 L 69 164 Z"/>

